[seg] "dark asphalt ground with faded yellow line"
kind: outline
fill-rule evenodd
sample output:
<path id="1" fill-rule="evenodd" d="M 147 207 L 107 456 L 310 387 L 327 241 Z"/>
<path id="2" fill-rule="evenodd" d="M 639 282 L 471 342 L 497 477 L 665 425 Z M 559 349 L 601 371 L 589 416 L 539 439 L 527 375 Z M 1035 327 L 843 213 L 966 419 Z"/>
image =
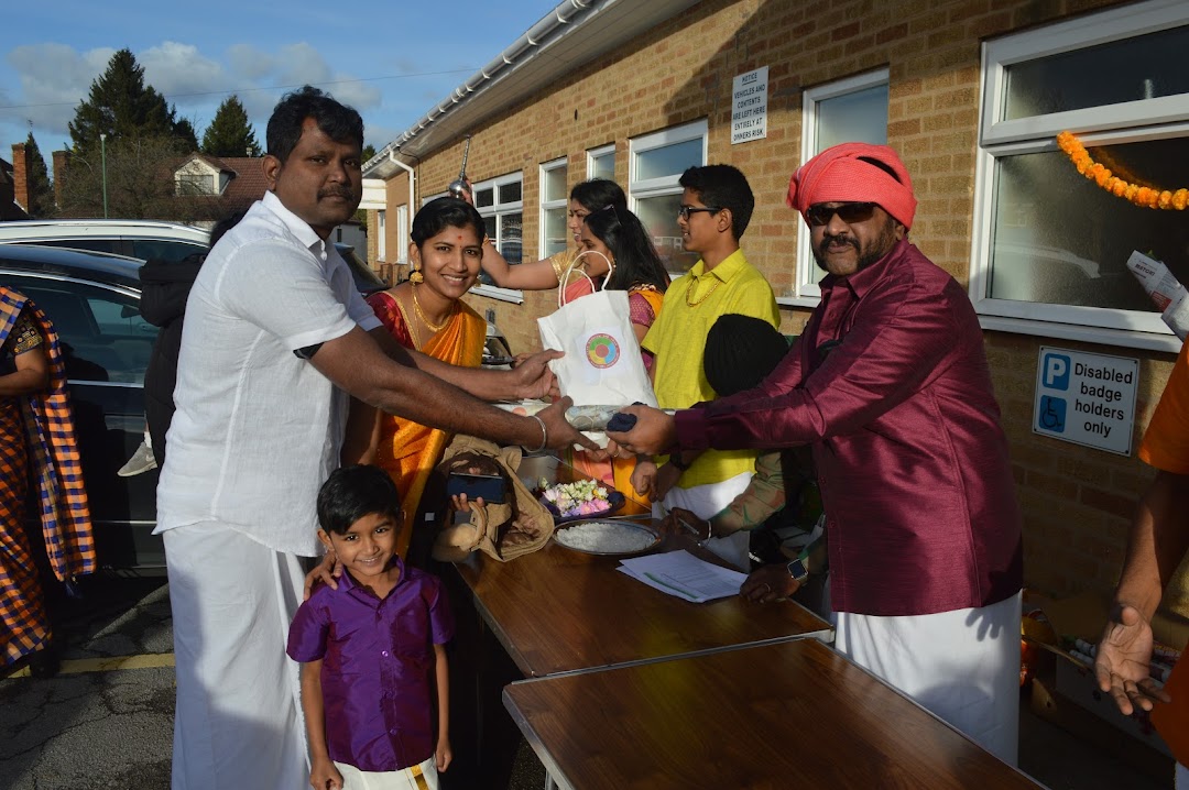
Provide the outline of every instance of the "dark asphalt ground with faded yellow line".
<path id="1" fill-rule="evenodd" d="M 57 676 L 0 677 L 0 790 L 166 790 L 172 753 L 174 656 L 163 577 L 101 574 L 56 605 Z M 1171 789 L 1122 759 L 1122 735 L 1075 737 L 1020 704 L 1020 767 L 1053 790 Z M 1121 750 L 1121 751 L 1120 751 Z M 540 790 L 545 770 L 523 741 L 499 790 Z"/>

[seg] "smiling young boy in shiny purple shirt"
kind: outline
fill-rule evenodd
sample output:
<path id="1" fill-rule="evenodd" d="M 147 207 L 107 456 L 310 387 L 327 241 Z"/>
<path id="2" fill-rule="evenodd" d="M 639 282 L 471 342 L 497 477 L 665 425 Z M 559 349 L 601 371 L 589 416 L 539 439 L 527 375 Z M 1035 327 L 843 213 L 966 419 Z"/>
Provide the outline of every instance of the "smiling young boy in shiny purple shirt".
<path id="1" fill-rule="evenodd" d="M 319 539 L 347 573 L 338 589 L 319 587 L 289 630 L 289 657 L 302 664 L 310 784 L 397 786 L 373 775 L 403 772 L 408 786 L 436 789 L 453 757 L 446 593 L 396 555 L 400 494 L 379 467 L 333 472 L 317 494 L 317 520 Z"/>

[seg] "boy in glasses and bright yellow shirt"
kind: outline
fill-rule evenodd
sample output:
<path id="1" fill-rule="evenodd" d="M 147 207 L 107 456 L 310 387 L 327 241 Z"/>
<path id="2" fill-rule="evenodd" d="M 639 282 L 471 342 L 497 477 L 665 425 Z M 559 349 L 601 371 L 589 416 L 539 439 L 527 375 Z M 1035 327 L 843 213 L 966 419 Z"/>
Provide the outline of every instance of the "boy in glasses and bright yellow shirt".
<path id="1" fill-rule="evenodd" d="M 719 316 L 737 312 L 780 327 L 772 286 L 740 249 L 755 208 L 747 178 L 730 165 L 706 165 L 690 168 L 679 183 L 685 188 L 678 209 L 681 245 L 702 259 L 669 285 L 642 343 L 656 355 L 653 387 L 661 409 L 688 409 L 715 398 L 702 359 Z M 660 469 L 641 461 L 633 484 L 653 495 L 658 511 L 682 507 L 710 518 L 747 488 L 755 456 L 754 450 L 706 450 L 685 460 L 669 456 Z M 749 568 L 746 532 L 713 538 L 706 548 L 742 570 Z"/>

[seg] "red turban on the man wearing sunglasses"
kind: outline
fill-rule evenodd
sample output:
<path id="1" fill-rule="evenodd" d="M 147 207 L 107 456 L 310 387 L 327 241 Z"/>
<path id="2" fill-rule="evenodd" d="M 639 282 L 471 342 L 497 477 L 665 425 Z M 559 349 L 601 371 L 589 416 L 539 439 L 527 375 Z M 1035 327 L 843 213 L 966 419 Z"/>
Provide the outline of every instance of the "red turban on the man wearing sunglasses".
<path id="1" fill-rule="evenodd" d="M 900 157 L 886 145 L 867 143 L 841 143 L 798 168 L 788 182 L 787 200 L 801 216 L 814 203 L 879 203 L 905 228 L 912 227 L 917 213 L 912 181 Z"/>

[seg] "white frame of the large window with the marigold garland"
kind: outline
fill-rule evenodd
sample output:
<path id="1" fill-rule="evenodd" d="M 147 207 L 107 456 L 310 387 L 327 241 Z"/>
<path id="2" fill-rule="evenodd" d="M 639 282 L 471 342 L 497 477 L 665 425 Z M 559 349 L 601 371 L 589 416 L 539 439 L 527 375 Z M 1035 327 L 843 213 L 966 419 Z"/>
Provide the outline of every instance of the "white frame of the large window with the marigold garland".
<path id="1" fill-rule="evenodd" d="M 1069 129 L 1087 145 L 1140 143 L 1189 135 L 1189 95 L 1089 107 L 1013 120 L 1002 118 L 1007 69 L 1015 63 L 1153 33 L 1189 24 L 1179 0 L 1152 0 L 1112 8 L 987 42 L 982 46 L 983 99 L 975 157 L 970 301 L 983 329 L 1128 348 L 1176 352 L 1181 341 L 1157 312 L 990 298 L 995 162 L 1000 157 L 1057 151 Z"/>

